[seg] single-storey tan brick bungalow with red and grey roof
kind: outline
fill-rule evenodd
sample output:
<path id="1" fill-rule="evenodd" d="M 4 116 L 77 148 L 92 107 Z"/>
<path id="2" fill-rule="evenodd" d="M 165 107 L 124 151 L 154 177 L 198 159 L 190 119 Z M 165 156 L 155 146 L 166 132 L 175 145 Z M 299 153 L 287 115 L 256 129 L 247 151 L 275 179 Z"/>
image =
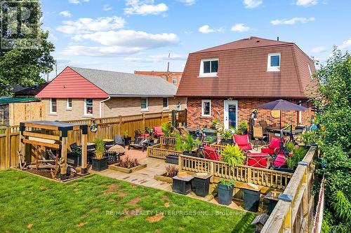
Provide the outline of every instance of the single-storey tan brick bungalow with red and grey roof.
<path id="1" fill-rule="evenodd" d="M 107 118 L 181 110 L 186 97 L 157 76 L 68 66 L 39 94 L 46 120 Z"/>

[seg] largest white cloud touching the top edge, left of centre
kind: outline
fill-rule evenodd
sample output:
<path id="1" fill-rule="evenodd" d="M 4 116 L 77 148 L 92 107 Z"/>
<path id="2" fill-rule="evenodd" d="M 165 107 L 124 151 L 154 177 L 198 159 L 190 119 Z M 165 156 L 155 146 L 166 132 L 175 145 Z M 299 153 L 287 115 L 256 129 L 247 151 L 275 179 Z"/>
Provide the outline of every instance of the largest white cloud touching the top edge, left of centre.
<path id="1" fill-rule="evenodd" d="M 154 4 L 154 0 L 126 0 L 126 15 L 159 15 L 168 10 L 165 3 Z"/>

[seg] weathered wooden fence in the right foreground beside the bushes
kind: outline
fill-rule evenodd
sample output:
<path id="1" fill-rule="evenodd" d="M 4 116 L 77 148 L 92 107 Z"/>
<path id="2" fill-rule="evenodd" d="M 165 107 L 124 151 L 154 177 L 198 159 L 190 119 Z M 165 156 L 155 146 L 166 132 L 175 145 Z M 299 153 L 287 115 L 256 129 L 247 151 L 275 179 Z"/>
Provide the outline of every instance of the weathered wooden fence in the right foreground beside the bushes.
<path id="1" fill-rule="evenodd" d="M 310 232 L 314 213 L 312 185 L 315 157 L 317 148 L 312 146 L 284 190 L 285 198 L 279 198 L 277 206 L 261 230 L 262 233 Z"/>

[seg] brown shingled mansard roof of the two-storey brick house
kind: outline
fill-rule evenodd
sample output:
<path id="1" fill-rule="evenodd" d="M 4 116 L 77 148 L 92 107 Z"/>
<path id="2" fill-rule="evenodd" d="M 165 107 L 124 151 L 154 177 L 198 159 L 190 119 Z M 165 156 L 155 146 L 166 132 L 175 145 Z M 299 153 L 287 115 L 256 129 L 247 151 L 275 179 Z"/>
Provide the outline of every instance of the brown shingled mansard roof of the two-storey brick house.
<path id="1" fill-rule="evenodd" d="M 268 54 L 279 52 L 279 72 L 267 71 Z M 199 77 L 201 59 L 218 58 L 217 77 Z M 177 96 L 307 99 L 314 63 L 294 43 L 258 37 L 190 53 Z"/>

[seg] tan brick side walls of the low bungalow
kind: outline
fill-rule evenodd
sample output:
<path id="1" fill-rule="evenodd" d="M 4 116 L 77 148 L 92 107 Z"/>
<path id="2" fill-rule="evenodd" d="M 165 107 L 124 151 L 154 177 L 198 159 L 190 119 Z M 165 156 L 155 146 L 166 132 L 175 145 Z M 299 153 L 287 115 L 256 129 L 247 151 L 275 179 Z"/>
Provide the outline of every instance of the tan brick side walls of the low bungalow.
<path id="1" fill-rule="evenodd" d="M 78 120 L 100 117 L 100 101 L 102 99 L 93 99 L 92 116 L 84 115 L 84 99 L 72 99 L 72 109 L 67 109 L 67 99 L 57 99 L 57 113 L 50 113 L 50 99 L 42 99 L 41 101 L 45 104 L 46 120 Z M 141 111 L 140 97 L 112 97 L 102 103 L 102 118 L 171 111 L 177 108 L 179 101 L 182 104 L 182 109 L 185 109 L 187 107 L 185 97 L 169 97 L 168 110 L 164 110 L 162 97 L 149 97 L 149 110 Z"/>

